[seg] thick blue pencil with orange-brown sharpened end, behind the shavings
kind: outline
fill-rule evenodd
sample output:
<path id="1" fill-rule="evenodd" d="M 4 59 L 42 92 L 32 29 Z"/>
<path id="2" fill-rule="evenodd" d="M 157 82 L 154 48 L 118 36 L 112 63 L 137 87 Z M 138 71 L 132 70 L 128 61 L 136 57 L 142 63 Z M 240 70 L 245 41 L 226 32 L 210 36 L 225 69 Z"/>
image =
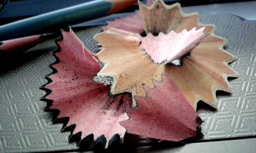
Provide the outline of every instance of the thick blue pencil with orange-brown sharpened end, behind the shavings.
<path id="1" fill-rule="evenodd" d="M 136 2 L 137 0 L 96 0 L 11 22 L 0 26 L 0 41 L 54 32 L 68 25 L 115 13 Z"/>

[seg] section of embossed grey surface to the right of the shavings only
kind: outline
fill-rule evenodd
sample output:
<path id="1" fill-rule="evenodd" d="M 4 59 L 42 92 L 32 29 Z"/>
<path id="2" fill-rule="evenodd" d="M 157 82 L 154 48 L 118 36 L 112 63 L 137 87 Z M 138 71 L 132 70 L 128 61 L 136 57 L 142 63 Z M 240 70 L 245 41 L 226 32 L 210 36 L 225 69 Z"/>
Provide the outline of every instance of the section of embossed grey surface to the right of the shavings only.
<path id="1" fill-rule="evenodd" d="M 200 108 L 204 139 L 256 135 L 256 22 L 233 15 L 202 16 L 202 23 L 215 24 L 216 34 L 228 39 L 226 50 L 238 58 L 230 64 L 240 78 L 230 80 L 231 95 L 219 94 L 217 110 Z"/>

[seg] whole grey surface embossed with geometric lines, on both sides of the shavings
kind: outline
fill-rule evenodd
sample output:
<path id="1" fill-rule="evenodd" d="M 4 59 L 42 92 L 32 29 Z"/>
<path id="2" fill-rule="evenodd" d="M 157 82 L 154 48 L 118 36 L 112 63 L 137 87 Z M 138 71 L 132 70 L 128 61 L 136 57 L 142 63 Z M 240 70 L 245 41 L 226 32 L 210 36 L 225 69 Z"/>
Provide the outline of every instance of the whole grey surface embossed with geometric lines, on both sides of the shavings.
<path id="1" fill-rule="evenodd" d="M 202 23 L 216 24 L 216 34 L 229 40 L 227 51 L 238 57 L 230 66 L 241 75 L 230 81 L 233 94 L 219 96 L 218 111 L 207 106 L 198 110 L 205 121 L 204 139 L 256 136 L 256 22 L 225 14 L 204 15 L 201 19 Z M 88 48 L 95 50 L 92 36 L 98 32 L 99 28 L 88 28 L 76 34 Z M 51 41 L 32 48 L 30 53 L 54 49 Z M 62 124 L 52 124 L 52 114 L 42 111 L 46 103 L 39 101 L 45 92 L 38 88 L 47 82 L 44 76 L 51 72 L 48 65 L 53 61 L 54 57 L 46 52 L 0 74 L 0 152 L 77 148 L 68 142 L 69 132 L 60 133 Z"/>

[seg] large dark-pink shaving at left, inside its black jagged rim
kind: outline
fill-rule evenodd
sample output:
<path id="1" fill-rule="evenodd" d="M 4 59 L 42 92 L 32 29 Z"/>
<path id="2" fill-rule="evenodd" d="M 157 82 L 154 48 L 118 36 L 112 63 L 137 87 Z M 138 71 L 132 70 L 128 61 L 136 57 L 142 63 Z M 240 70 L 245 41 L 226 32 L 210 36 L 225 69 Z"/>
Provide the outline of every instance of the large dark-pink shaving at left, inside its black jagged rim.
<path id="1" fill-rule="evenodd" d="M 110 96 L 109 86 L 93 81 L 100 70 L 97 58 L 72 31 L 62 35 L 55 54 L 59 63 L 53 65 L 58 72 L 50 75 L 53 82 L 46 86 L 52 90 L 47 96 L 54 101 L 50 108 L 60 111 L 58 118 L 69 117 L 67 126 L 76 124 L 73 133 L 82 132 L 81 139 L 90 134 L 94 140 L 101 135 L 107 141 L 115 134 L 123 137 L 126 130 L 119 122 L 129 118 L 124 108 L 131 107 L 131 94 Z"/>

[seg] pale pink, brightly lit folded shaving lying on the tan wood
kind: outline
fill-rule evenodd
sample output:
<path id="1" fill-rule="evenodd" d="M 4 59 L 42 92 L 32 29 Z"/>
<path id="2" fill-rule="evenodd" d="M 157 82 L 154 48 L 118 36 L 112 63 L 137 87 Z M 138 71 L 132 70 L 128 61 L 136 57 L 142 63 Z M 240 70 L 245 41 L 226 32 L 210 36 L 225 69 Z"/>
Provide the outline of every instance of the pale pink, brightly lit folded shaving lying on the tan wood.
<path id="1" fill-rule="evenodd" d="M 183 30 L 181 33 L 159 33 L 158 36 L 148 33 L 142 38 L 140 47 L 145 49 L 154 62 L 167 64 L 191 52 L 207 36 L 203 30 L 204 28 L 193 28 L 190 31 Z"/>

